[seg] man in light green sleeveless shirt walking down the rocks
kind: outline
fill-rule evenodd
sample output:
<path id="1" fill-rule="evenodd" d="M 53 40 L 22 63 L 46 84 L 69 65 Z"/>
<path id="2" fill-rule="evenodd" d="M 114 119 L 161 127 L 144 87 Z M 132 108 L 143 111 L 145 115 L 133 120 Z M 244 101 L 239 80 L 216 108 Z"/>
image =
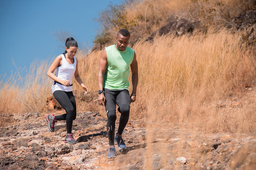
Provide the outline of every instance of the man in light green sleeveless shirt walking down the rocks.
<path id="1" fill-rule="evenodd" d="M 138 64 L 133 49 L 128 47 L 130 33 L 126 29 L 118 31 L 116 44 L 110 45 L 101 53 L 98 72 L 98 86 L 100 105 L 105 105 L 107 113 L 107 134 L 109 149 L 107 157 L 115 157 L 114 140 L 119 149 L 125 149 L 122 133 L 126 126 L 129 114 L 130 103 L 136 100 L 136 89 L 138 84 Z M 129 87 L 129 68 L 132 70 L 133 92 L 130 95 Z M 121 113 L 119 127 L 114 137 L 116 113 L 115 107 Z"/>

